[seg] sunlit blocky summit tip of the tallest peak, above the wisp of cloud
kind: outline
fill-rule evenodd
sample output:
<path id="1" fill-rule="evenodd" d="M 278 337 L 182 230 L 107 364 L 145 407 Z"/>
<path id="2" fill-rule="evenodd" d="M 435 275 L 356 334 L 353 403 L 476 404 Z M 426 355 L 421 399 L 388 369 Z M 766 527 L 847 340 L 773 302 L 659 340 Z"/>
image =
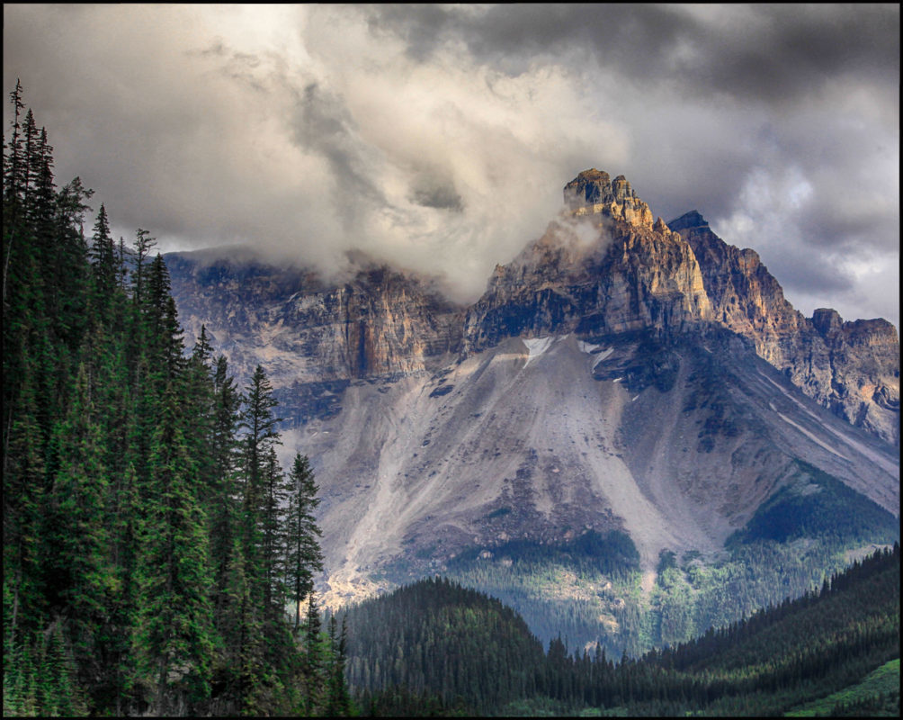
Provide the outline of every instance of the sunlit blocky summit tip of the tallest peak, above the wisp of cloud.
<path id="1" fill-rule="evenodd" d="M 607 215 L 652 227 L 649 206 L 637 197 L 624 175 L 611 180 L 609 173 L 596 168 L 584 170 L 564 186 L 564 205 L 573 215 Z"/>

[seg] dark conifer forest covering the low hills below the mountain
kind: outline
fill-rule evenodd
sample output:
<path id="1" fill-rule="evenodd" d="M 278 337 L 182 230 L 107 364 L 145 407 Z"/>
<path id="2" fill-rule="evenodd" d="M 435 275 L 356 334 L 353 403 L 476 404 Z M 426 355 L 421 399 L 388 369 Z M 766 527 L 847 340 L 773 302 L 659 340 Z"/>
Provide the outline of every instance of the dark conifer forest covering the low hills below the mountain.
<path id="1" fill-rule="evenodd" d="M 498 600 L 424 580 L 342 613 L 349 683 L 377 715 L 782 715 L 838 693 L 823 711 L 898 716 L 899 591 L 895 544 L 820 591 L 616 662 L 560 638 L 544 652 Z M 896 682 L 842 694 L 886 664 Z"/>

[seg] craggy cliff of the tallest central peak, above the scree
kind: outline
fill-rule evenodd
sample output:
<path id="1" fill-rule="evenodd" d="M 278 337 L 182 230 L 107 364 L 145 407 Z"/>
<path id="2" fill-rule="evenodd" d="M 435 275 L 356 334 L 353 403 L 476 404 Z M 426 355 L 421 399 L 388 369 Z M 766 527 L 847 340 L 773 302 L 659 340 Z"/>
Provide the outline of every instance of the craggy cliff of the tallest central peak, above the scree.
<path id="1" fill-rule="evenodd" d="M 507 266 L 467 313 L 465 354 L 506 337 L 548 332 L 675 336 L 712 307 L 693 249 L 636 197 L 622 176 L 581 173 L 564 188 L 568 208 Z"/>

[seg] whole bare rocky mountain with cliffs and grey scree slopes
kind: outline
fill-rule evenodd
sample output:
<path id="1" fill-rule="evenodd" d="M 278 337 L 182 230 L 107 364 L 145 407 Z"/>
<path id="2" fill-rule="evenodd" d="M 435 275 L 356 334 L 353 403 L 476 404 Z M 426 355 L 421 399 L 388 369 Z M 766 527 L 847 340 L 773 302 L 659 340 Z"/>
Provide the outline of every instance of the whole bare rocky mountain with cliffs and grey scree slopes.
<path id="1" fill-rule="evenodd" d="M 332 602 L 612 532 L 648 593 L 663 552 L 723 555 L 822 474 L 898 515 L 893 326 L 806 319 L 753 251 L 698 213 L 654 221 L 623 176 L 569 182 L 469 307 L 366 257 L 328 281 L 229 255 L 167 256 L 172 294 L 189 340 L 203 323 L 239 377 L 271 377 L 321 483 Z"/>

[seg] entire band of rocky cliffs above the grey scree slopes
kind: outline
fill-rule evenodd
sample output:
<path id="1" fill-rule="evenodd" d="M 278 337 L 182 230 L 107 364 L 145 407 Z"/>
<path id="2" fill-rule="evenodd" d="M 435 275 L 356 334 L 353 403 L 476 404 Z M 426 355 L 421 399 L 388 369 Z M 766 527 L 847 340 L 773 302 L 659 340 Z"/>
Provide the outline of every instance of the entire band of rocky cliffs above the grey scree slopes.
<path id="1" fill-rule="evenodd" d="M 497 266 L 469 308 L 431 280 L 358 258 L 342 282 L 311 270 L 214 253 L 167 257 L 187 341 L 206 323 L 247 378 L 267 368 L 295 422 L 336 412 L 349 382 L 432 372 L 511 337 L 615 336 L 674 341 L 723 327 L 835 415 L 899 444 L 899 341 L 883 320 L 805 318 L 750 249 L 718 238 L 698 212 L 666 225 L 619 175 L 568 182 L 542 238 Z"/>

